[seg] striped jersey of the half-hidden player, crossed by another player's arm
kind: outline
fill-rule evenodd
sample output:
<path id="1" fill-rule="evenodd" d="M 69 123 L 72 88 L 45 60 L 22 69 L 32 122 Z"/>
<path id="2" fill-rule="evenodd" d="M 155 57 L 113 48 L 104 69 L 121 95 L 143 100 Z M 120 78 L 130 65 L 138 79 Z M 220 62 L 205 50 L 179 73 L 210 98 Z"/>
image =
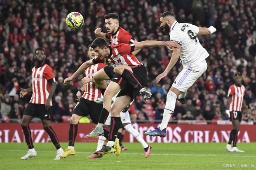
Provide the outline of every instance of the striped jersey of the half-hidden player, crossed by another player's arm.
<path id="1" fill-rule="evenodd" d="M 89 66 L 84 72 L 85 76 L 91 78 L 98 70 L 105 66 L 106 65 L 103 63 Z M 100 89 L 98 88 L 98 84 L 92 82 L 87 83 L 82 98 L 93 102 L 96 102 L 98 98 L 103 98 Z"/>

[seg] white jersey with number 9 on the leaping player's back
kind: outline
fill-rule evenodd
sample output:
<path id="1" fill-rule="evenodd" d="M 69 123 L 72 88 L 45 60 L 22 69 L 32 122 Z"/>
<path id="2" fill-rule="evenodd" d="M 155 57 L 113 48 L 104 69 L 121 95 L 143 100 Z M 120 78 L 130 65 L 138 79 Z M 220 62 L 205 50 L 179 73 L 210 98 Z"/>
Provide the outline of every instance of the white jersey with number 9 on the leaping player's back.
<path id="1" fill-rule="evenodd" d="M 170 40 L 181 45 L 180 60 L 183 66 L 200 62 L 209 56 L 196 35 L 199 27 L 190 23 L 174 21 L 170 29 Z"/>

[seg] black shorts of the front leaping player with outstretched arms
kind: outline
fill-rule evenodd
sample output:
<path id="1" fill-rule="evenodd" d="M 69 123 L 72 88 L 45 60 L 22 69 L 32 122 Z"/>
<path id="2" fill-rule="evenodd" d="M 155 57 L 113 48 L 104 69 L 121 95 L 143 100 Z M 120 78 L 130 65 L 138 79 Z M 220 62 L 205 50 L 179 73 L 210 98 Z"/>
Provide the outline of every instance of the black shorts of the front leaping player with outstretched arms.
<path id="1" fill-rule="evenodd" d="M 138 80 L 138 82 L 140 82 L 140 85 L 142 87 L 144 87 L 147 83 L 147 69 L 146 69 L 146 67 L 144 65 L 141 65 L 141 66 L 132 66 L 132 65 L 130 65 L 130 67 L 132 68 L 132 72 L 133 72 L 135 78 Z M 118 93 L 118 95 L 116 97 L 130 96 L 131 101 L 132 101 L 136 98 L 136 96 L 138 96 L 138 94 L 140 94 L 140 90 L 134 88 L 128 82 L 125 82 L 124 85 L 121 86 L 121 90 L 120 90 L 120 92 Z"/>

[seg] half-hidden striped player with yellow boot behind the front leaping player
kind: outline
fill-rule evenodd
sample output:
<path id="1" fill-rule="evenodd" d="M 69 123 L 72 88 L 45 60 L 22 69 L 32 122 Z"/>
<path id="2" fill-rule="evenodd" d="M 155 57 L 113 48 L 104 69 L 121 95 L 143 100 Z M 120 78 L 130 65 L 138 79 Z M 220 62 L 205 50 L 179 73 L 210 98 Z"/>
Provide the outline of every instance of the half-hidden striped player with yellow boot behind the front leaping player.
<path id="1" fill-rule="evenodd" d="M 88 46 L 88 56 L 89 59 L 93 59 L 96 55 L 93 51 L 91 45 Z M 103 63 L 98 63 L 92 66 L 89 66 L 85 71 L 85 77 L 92 78 L 92 76 L 100 69 L 104 68 L 106 65 Z M 102 83 L 106 82 L 103 81 Z M 82 97 L 80 98 L 81 94 L 83 93 Z M 78 131 L 78 121 L 83 116 L 90 115 L 92 122 L 95 124 L 95 127 L 100 118 L 100 111 L 102 109 L 102 104 L 97 104 L 96 100 L 98 98 L 102 98 L 102 94 L 100 89 L 98 88 L 98 84 L 90 82 L 84 84 L 82 88 L 76 94 L 79 102 L 76 104 L 74 110 L 72 111 L 72 116 L 70 118 L 70 129 L 68 133 L 68 149 L 65 150 L 63 154 L 60 155 L 61 158 L 66 158 L 69 155 L 74 155 L 76 153 L 74 149 L 75 139 Z M 107 133 L 108 135 L 108 133 Z M 99 155 L 102 157 L 102 155 Z"/>

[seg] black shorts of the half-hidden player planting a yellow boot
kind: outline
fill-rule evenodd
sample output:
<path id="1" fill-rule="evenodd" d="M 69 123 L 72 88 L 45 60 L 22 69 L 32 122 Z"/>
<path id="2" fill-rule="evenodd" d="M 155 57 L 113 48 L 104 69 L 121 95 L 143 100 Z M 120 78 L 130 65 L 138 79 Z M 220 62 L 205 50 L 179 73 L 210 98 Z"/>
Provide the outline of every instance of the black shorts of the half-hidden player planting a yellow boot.
<path id="1" fill-rule="evenodd" d="M 90 115 L 92 122 L 98 123 L 102 106 L 102 104 L 97 104 L 96 102 L 80 98 L 79 102 L 76 104 L 76 107 L 73 109 L 72 114 L 79 116 Z"/>

